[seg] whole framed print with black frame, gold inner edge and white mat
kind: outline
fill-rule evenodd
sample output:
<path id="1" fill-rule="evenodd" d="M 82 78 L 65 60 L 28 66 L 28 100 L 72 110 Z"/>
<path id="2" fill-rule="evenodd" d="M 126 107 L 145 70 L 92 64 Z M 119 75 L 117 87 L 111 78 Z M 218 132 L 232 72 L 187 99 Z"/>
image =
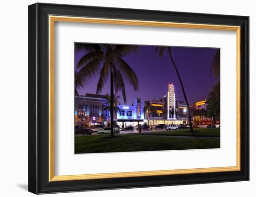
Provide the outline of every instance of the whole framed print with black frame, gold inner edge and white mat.
<path id="1" fill-rule="evenodd" d="M 28 191 L 249 180 L 249 17 L 28 6 Z"/>

